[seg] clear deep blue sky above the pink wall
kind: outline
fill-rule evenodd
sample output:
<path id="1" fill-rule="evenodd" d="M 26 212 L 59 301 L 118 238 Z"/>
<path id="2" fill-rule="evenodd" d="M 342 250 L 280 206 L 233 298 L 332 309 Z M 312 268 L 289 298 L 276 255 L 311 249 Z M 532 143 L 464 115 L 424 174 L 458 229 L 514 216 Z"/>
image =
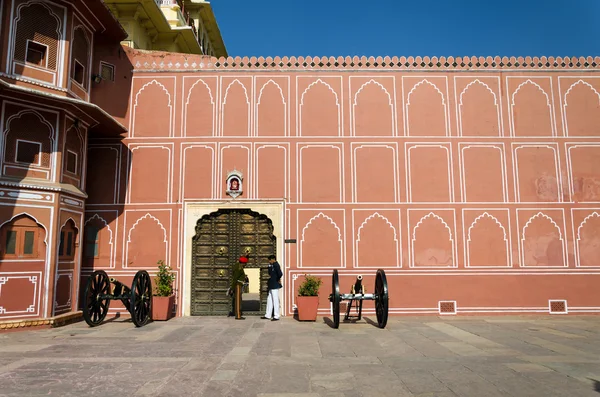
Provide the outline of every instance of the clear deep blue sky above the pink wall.
<path id="1" fill-rule="evenodd" d="M 600 0 L 211 0 L 231 56 L 596 56 Z"/>

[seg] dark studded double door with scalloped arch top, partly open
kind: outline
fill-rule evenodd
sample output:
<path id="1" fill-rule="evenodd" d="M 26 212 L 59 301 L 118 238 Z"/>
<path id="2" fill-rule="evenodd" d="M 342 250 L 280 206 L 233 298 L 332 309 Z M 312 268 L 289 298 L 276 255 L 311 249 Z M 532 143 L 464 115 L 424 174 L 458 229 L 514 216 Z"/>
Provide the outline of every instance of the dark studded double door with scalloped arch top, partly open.
<path id="1" fill-rule="evenodd" d="M 231 284 L 233 265 L 249 255 L 246 273 L 256 291 L 256 305 L 244 315 L 264 313 L 267 303 L 269 255 L 276 255 L 277 240 L 273 223 L 250 209 L 220 209 L 204 215 L 196 223 L 192 238 L 191 315 L 227 315 L 231 299 L 226 291 Z M 254 281 L 253 281 L 254 280 Z M 258 285 L 256 285 L 258 284 Z M 251 294 L 248 294 L 251 295 Z"/>

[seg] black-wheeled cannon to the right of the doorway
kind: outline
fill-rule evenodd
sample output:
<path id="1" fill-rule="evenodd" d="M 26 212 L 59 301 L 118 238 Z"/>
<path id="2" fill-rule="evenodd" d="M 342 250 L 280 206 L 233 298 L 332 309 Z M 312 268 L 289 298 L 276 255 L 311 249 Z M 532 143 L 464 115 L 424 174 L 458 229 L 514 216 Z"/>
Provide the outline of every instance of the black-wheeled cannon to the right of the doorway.
<path id="1" fill-rule="evenodd" d="M 340 302 L 347 300 L 348 306 L 346 307 L 346 320 L 360 320 L 362 317 L 362 303 L 365 300 L 375 301 L 375 312 L 377 313 L 377 324 L 379 328 L 385 328 L 388 317 L 388 289 L 387 279 L 385 272 L 381 269 L 377 270 L 375 276 L 375 288 L 372 294 L 367 294 L 365 287 L 362 285 L 362 276 L 356 277 L 356 282 L 351 288 L 349 294 L 340 294 L 340 280 L 338 277 L 337 270 L 333 271 L 333 277 L 331 278 L 331 295 L 329 295 L 329 301 L 333 306 L 333 324 L 334 328 L 340 326 Z M 355 305 L 357 314 L 355 316 L 350 315 L 352 304 Z"/>

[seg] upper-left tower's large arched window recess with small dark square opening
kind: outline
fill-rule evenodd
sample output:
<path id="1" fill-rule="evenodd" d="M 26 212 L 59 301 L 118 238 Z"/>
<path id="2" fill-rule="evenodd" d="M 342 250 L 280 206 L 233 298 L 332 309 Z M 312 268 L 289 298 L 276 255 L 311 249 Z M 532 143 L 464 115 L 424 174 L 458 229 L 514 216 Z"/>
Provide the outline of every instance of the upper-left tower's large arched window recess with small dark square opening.
<path id="1" fill-rule="evenodd" d="M 33 3 L 18 8 L 15 60 L 57 69 L 61 18 L 50 7 Z"/>

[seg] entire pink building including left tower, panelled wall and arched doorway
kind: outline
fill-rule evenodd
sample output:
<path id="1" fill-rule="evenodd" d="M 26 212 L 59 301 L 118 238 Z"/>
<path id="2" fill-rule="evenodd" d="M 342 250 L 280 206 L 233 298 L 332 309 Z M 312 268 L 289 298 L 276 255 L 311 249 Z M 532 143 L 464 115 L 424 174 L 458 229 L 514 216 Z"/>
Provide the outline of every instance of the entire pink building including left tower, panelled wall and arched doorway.
<path id="1" fill-rule="evenodd" d="M 264 300 L 265 250 L 285 315 L 305 274 L 327 315 L 333 269 L 380 268 L 392 315 L 600 310 L 600 59 L 137 51 L 101 2 L 54 3 L 2 8 L 0 322 L 159 260 L 178 315 L 226 314 L 206 297 L 249 254 Z"/>

